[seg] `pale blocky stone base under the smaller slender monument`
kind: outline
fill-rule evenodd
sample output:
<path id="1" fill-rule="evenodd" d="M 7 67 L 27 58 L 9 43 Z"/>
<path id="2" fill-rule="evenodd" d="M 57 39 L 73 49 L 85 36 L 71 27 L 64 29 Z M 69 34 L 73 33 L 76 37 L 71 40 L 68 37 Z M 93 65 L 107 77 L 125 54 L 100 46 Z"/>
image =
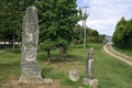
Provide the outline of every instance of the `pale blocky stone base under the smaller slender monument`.
<path id="1" fill-rule="evenodd" d="M 89 85 L 89 88 L 98 88 L 99 85 L 97 79 L 84 78 L 82 82 L 84 85 Z"/>

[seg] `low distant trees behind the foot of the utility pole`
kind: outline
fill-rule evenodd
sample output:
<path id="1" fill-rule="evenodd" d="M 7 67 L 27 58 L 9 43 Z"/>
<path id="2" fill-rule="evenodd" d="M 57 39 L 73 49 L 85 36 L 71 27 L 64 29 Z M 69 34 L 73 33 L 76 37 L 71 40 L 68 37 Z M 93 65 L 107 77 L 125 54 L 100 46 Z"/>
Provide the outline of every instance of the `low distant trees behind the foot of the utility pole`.
<path id="1" fill-rule="evenodd" d="M 87 43 L 102 43 L 105 35 L 99 34 L 97 30 L 86 28 L 86 40 Z M 79 24 L 74 28 L 74 42 L 84 43 L 84 28 Z"/>

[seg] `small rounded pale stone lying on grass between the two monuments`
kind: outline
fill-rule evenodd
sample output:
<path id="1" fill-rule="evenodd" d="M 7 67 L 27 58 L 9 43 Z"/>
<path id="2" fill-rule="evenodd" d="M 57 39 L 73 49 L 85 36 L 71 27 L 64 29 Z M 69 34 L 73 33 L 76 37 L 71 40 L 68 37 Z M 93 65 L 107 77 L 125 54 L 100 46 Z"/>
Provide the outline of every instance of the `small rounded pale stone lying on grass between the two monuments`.
<path id="1" fill-rule="evenodd" d="M 78 81 L 79 80 L 79 73 L 77 69 L 69 70 L 69 78 L 73 81 Z"/>

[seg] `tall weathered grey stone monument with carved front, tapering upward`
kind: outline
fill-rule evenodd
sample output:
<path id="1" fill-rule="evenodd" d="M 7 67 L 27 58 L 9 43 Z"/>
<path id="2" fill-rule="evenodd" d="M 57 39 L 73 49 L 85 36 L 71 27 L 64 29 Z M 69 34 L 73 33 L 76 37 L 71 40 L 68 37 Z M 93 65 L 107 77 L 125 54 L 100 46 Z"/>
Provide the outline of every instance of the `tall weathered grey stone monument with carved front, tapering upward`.
<path id="1" fill-rule="evenodd" d="M 21 77 L 19 82 L 42 82 L 43 77 L 36 61 L 38 18 L 35 7 L 29 7 L 22 24 Z"/>

